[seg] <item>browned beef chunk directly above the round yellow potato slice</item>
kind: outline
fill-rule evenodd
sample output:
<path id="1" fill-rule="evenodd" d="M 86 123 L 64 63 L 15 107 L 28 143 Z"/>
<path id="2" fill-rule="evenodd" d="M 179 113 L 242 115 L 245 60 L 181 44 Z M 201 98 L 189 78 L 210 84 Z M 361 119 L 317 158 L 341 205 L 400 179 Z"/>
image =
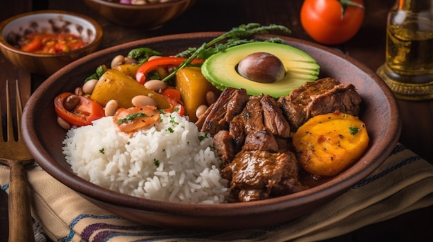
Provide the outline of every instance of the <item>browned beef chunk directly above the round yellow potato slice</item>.
<path id="1" fill-rule="evenodd" d="M 337 110 L 358 116 L 361 97 L 353 85 L 344 85 L 327 77 L 305 83 L 288 96 L 280 97 L 278 102 L 295 132 L 308 119 L 319 114 Z"/>

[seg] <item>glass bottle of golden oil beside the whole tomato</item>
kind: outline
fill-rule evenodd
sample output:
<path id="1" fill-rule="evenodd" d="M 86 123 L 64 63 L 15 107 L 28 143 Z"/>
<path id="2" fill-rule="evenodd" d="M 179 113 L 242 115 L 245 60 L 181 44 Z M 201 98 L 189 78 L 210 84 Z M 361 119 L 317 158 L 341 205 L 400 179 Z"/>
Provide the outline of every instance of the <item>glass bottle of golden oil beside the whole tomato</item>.
<path id="1" fill-rule="evenodd" d="M 377 73 L 398 99 L 433 99 L 433 0 L 396 0 Z"/>

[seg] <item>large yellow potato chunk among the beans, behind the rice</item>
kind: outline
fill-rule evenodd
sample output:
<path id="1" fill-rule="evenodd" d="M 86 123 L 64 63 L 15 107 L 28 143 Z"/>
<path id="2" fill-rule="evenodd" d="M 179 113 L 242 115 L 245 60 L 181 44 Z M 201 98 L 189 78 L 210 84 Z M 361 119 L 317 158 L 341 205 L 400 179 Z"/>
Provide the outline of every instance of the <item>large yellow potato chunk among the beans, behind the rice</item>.
<path id="1" fill-rule="evenodd" d="M 110 100 L 116 100 L 120 108 L 131 108 L 133 106 L 131 100 L 138 95 L 155 99 L 158 108 L 170 108 L 169 102 L 163 96 L 145 88 L 138 81 L 116 69 L 107 70 L 102 74 L 90 98 L 102 106 Z"/>

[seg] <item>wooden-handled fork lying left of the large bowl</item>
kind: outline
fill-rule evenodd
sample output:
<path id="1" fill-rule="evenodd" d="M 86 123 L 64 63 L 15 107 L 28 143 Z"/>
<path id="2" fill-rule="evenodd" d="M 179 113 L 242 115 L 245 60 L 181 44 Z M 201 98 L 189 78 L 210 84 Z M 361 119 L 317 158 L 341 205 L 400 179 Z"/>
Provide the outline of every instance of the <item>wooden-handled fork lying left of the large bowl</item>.
<path id="1" fill-rule="evenodd" d="M 10 168 L 9 185 L 9 241 L 35 241 L 33 223 L 30 212 L 30 193 L 24 165 L 33 162 L 21 137 L 21 94 L 18 81 L 15 81 L 16 110 L 17 110 L 17 139 L 15 139 L 12 123 L 11 100 L 9 96 L 9 82 L 6 81 L 6 141 L 3 139 L 3 122 L 0 116 L 0 162 Z M 1 106 L 0 106 L 1 108 Z M 1 112 L 0 112 L 1 113 Z"/>

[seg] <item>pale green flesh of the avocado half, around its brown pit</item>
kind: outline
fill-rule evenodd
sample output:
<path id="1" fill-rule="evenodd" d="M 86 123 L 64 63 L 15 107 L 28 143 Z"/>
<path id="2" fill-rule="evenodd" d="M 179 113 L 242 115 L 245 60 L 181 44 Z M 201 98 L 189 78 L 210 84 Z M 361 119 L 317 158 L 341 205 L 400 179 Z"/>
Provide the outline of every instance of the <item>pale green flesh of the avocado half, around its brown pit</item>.
<path id="1" fill-rule="evenodd" d="M 237 73 L 237 64 L 255 52 L 268 52 L 284 64 L 286 75 L 274 83 L 259 83 Z M 208 58 L 201 66 L 204 77 L 219 90 L 245 88 L 250 95 L 268 94 L 278 98 L 288 95 L 307 81 L 315 81 L 320 66 L 302 50 L 282 43 L 252 42 L 228 48 Z"/>

